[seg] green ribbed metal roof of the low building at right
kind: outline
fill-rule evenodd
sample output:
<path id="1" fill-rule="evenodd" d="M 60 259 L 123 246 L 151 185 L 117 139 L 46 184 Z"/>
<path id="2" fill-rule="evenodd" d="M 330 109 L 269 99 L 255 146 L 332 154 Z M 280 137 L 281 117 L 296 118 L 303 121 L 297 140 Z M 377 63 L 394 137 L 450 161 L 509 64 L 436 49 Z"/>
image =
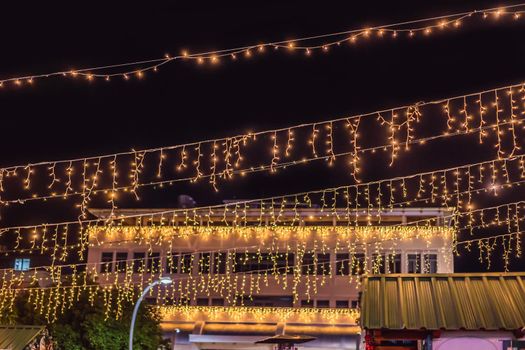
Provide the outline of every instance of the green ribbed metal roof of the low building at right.
<path id="1" fill-rule="evenodd" d="M 363 277 L 364 329 L 519 330 L 525 273 Z"/>

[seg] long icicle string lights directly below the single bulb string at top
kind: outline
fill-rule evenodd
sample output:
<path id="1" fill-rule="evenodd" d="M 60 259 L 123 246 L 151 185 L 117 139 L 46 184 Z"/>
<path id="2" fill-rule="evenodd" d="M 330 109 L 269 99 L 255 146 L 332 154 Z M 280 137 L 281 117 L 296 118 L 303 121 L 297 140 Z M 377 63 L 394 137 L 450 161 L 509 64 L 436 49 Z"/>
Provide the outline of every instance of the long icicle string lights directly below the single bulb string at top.
<path id="1" fill-rule="evenodd" d="M 322 159 L 328 164 L 333 164 L 337 157 L 343 155 L 350 158 L 350 173 L 354 180 L 359 182 L 359 164 L 364 152 L 389 151 L 390 164 L 392 164 L 400 152 L 408 151 L 411 145 L 466 134 L 478 134 L 479 143 L 491 143 L 498 157 L 504 158 L 521 149 L 523 115 L 525 114 L 523 101 L 525 101 L 525 85 L 510 85 L 418 103 L 408 107 L 376 111 L 366 115 L 248 133 L 225 139 L 103 155 L 95 158 L 40 162 L 1 168 L 0 194 L 3 193 L 4 196 L 0 198 L 0 204 L 24 203 L 31 200 L 31 197 L 33 200 L 47 200 L 77 195 L 82 199 L 78 204 L 81 218 L 85 218 L 92 196 L 99 193 L 106 194 L 108 203 L 116 208 L 119 193 L 128 192 L 139 198 L 137 191 L 144 186 L 158 185 L 160 187 L 177 181 L 197 182 L 206 178 L 213 188 L 218 190 L 219 179 L 228 180 L 238 174 L 242 176 L 259 171 L 275 173 L 278 169 L 313 160 Z M 455 104 L 456 107 L 460 105 L 460 109 L 455 110 Z M 440 113 L 444 116 L 444 121 L 446 119 L 446 129 L 438 135 L 416 138 L 415 128 L 423 116 L 422 107 L 429 105 L 443 107 Z M 371 132 L 375 134 L 386 132 L 386 142 L 365 146 L 359 141 L 359 123 L 367 116 L 375 117 L 373 127 L 378 128 L 377 130 L 373 128 Z M 491 123 L 491 117 L 494 123 Z M 478 125 L 475 125 L 476 120 Z M 301 132 L 304 137 L 302 142 L 299 142 Z M 492 141 L 489 138 L 490 134 L 494 136 Z M 255 152 L 255 157 L 248 156 L 246 153 L 249 151 L 248 143 L 254 143 L 256 139 L 272 144 L 271 159 L 268 159 L 266 164 L 256 163 L 257 159 L 260 161 L 261 152 Z M 321 149 L 323 141 L 325 147 Z M 292 148 L 293 146 L 297 148 L 298 143 L 301 143 L 303 148 L 310 149 L 310 154 L 304 153 L 304 149 L 302 153 L 299 151 L 294 153 Z M 343 149 L 341 144 L 350 145 L 350 149 Z M 281 154 L 282 150 L 285 150 L 284 154 Z M 210 155 L 208 161 L 205 159 L 206 154 Z M 153 167 L 151 167 L 152 163 Z M 146 164 L 152 168 L 149 169 L 149 173 Z M 41 176 L 35 174 L 37 170 Z M 176 177 L 171 177 L 173 172 Z M 41 182 L 40 189 L 47 194 L 33 193 L 28 197 L 5 198 L 5 193 L 9 189 L 29 191 L 31 186 L 38 181 Z"/>

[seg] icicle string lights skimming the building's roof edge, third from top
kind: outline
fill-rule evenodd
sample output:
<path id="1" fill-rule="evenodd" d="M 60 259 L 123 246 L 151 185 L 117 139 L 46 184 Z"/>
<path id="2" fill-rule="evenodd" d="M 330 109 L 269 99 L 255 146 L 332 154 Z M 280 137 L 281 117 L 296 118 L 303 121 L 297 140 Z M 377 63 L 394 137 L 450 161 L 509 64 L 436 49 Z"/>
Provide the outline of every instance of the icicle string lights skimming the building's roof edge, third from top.
<path id="1" fill-rule="evenodd" d="M 370 224 L 372 219 L 381 221 L 383 214 L 396 206 L 411 206 L 415 203 L 444 205 L 456 209 L 472 208 L 473 195 L 498 193 L 511 186 L 519 186 L 525 178 L 525 156 L 515 155 L 512 158 L 492 159 L 484 162 L 470 163 L 462 166 L 439 169 L 435 171 L 381 179 L 363 184 L 325 188 L 284 196 L 274 196 L 214 206 L 152 210 L 151 212 L 133 215 L 114 215 L 90 219 L 81 222 L 68 221 L 4 227 L 1 235 L 9 232 L 16 234 L 13 251 L 47 252 L 50 236 L 61 237 L 67 243 L 67 235 L 76 228 L 80 247 L 79 255 L 88 247 L 91 227 L 109 224 L 120 227 L 126 220 L 135 219 L 140 225 L 159 222 L 160 226 L 171 229 L 177 227 L 213 227 L 221 224 L 225 227 L 243 227 L 247 225 L 277 226 L 280 224 L 295 226 L 304 220 L 298 208 L 312 207 L 312 201 L 323 203 L 322 215 L 345 220 L 348 225 L 359 226 Z M 409 188 L 409 189 L 408 189 Z M 343 211 L 338 207 L 345 208 Z M 374 209 L 374 206 L 377 209 Z M 250 211 L 250 217 L 248 217 Z M 257 215 L 255 215 L 256 213 Z M 293 217 L 286 222 L 282 216 Z M 341 219 L 342 218 L 342 219 Z M 27 236 L 24 232 L 27 232 Z M 26 242 L 27 247 L 23 247 Z M 64 243 L 64 244 L 66 244 Z M 64 248 L 67 250 L 66 248 Z M 4 254 L 8 254 L 5 252 Z"/>

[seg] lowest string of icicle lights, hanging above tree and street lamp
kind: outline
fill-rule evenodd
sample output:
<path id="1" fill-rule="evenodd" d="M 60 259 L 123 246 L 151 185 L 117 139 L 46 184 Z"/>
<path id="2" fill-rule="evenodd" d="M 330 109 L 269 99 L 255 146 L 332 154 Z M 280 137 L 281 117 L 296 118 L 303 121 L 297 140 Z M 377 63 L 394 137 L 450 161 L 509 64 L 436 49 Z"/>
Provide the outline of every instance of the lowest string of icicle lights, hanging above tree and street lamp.
<path id="1" fill-rule="evenodd" d="M 518 203 L 523 204 L 523 202 L 516 202 L 516 203 L 509 203 L 507 206 L 514 206 L 518 205 Z M 492 209 L 498 210 L 502 206 L 493 207 Z M 488 209 L 488 208 L 485 208 Z M 510 215 L 509 215 L 510 217 Z M 517 221 L 515 223 L 516 227 L 519 228 L 519 221 L 523 220 L 523 218 L 519 218 L 517 215 L 513 216 L 513 218 L 516 218 Z M 509 219 L 510 220 L 510 219 Z M 513 249 L 515 249 L 516 254 L 519 256 L 521 254 L 520 250 L 520 244 L 519 244 L 519 238 L 523 231 L 514 231 L 509 232 L 506 234 L 500 234 L 495 236 L 488 236 L 484 238 L 480 238 L 477 240 L 468 240 L 468 241 L 462 241 L 457 242 L 458 245 L 462 244 L 468 244 L 470 247 L 472 243 L 477 242 L 478 247 L 480 249 L 480 261 L 489 260 L 490 261 L 490 253 L 493 251 L 495 244 L 498 239 L 502 240 L 502 244 L 505 249 L 504 254 L 504 261 L 507 264 L 508 260 L 510 260 L 508 257 L 510 256 Z M 491 242 L 491 239 L 494 241 Z M 512 246 L 512 241 L 515 240 L 515 248 Z M 361 245 L 370 245 L 372 242 L 363 242 Z M 381 248 L 380 248 L 381 249 Z M 377 246 L 374 250 L 376 253 L 379 252 Z M 485 252 L 485 253 L 483 253 Z M 391 250 L 389 253 L 395 253 L 395 249 Z M 275 256 L 278 256 L 279 253 L 275 253 Z M 288 256 L 289 250 L 286 250 L 286 256 Z M 360 270 L 360 268 L 364 265 L 366 267 L 367 259 L 365 260 L 359 260 L 356 259 L 356 250 L 352 251 L 352 257 L 349 258 L 336 258 L 335 265 L 339 267 L 345 266 L 345 262 L 348 263 L 348 266 L 352 264 L 352 273 L 348 272 L 347 277 L 349 277 L 349 282 L 352 283 L 358 283 L 358 275 L 362 273 L 377 273 L 382 265 L 388 265 L 388 255 L 385 255 L 385 257 L 382 257 L 381 255 L 379 260 L 377 257 L 372 257 L 372 264 L 378 264 L 375 268 L 376 270 L 372 269 L 363 269 Z M 486 254 L 486 255 L 484 255 Z M 376 254 L 377 255 L 377 254 Z M 210 255 L 211 256 L 211 255 Z M 507 258 L 505 258 L 507 256 Z M 304 252 L 303 252 L 304 257 Z M 178 303 L 178 307 L 184 307 L 187 305 L 187 303 L 190 300 L 194 300 L 196 295 L 200 293 L 207 294 L 210 296 L 210 294 L 213 293 L 212 289 L 213 287 L 210 287 L 210 277 L 212 276 L 210 274 L 211 271 L 211 263 L 209 261 L 210 258 L 208 258 L 208 265 L 205 265 L 202 262 L 199 262 L 199 275 L 193 276 L 192 275 L 192 269 L 188 270 L 188 275 L 177 277 L 175 278 L 175 281 L 178 282 L 178 289 L 177 287 L 171 288 L 171 291 L 168 292 L 169 288 L 165 290 L 161 290 L 159 294 L 157 294 L 157 301 L 161 300 L 162 304 L 166 304 L 167 298 L 169 295 L 172 297 L 172 301 L 176 300 Z M 382 261 L 381 259 L 387 259 L 385 261 Z M 239 262 L 236 260 L 233 260 L 235 262 Z M 357 264 L 355 264 L 355 261 L 357 261 Z M 378 262 L 379 261 L 379 262 Z M 190 262 L 193 264 L 193 259 L 190 260 Z M 273 264 L 275 264 L 276 260 L 272 260 Z M 232 262 L 229 261 L 226 266 L 230 266 Z M 260 263 L 260 262 L 259 262 Z M 246 264 L 246 261 L 244 262 Z M 354 265 L 355 264 L 355 265 Z M 133 280 L 130 278 L 130 273 L 128 273 L 128 270 L 130 270 L 130 267 L 132 265 L 126 263 L 126 269 L 124 271 L 118 271 L 115 274 L 107 273 L 106 278 L 104 281 L 108 282 L 113 277 L 115 277 L 114 281 L 111 281 L 110 283 L 100 283 L 96 285 L 87 284 L 87 274 L 84 273 L 80 276 L 74 275 L 72 278 L 72 285 L 62 285 L 62 274 L 60 272 L 55 272 L 55 277 L 58 278 L 56 280 L 56 283 L 58 285 L 52 286 L 52 287 L 19 287 L 17 283 L 13 283 L 12 280 L 9 280 L 8 286 L 6 288 L 2 288 L 0 291 L 0 309 L 12 309 L 14 299 L 17 297 L 17 295 L 20 294 L 21 291 L 29 291 L 30 294 L 30 303 L 31 300 L 33 300 L 34 304 L 33 307 L 36 308 L 41 314 L 45 315 L 48 321 L 53 322 L 53 320 L 56 320 L 57 314 L 60 312 L 64 312 L 65 309 L 72 306 L 75 298 L 79 297 L 79 294 L 81 292 L 88 291 L 90 293 L 90 300 L 94 300 L 96 296 L 103 297 L 104 298 L 104 304 L 107 308 L 106 310 L 106 316 L 109 317 L 113 315 L 117 319 L 121 316 L 119 313 L 119 310 L 121 309 L 122 301 L 124 300 L 133 300 L 135 295 L 135 287 L 136 286 L 143 286 L 145 282 L 144 276 L 141 275 L 140 282 L 137 282 L 137 280 Z M 202 273 L 202 268 L 207 266 L 208 275 L 206 273 Z M 507 265 L 506 265 L 507 266 Z M 326 270 L 328 272 L 325 271 Z M 292 276 L 289 276 L 289 268 L 293 269 Z M 322 270 L 322 276 L 318 275 L 317 269 L 320 268 Z M 281 271 L 282 270 L 282 271 Z M 257 269 L 257 270 L 248 270 L 248 271 L 236 271 L 235 269 L 231 270 L 228 273 L 228 269 L 224 272 L 225 275 L 229 275 L 228 283 L 232 283 L 227 289 L 227 293 L 233 294 L 233 297 L 231 299 L 228 299 L 228 295 L 226 296 L 228 299 L 228 303 L 231 303 L 232 305 L 236 305 L 237 302 L 240 302 L 239 305 L 243 305 L 244 300 L 249 300 L 252 298 L 252 294 L 255 294 L 257 291 L 261 288 L 261 283 L 263 286 L 266 284 L 268 285 L 268 278 L 270 271 L 273 272 L 273 275 L 271 274 L 270 278 L 275 278 L 276 281 L 282 281 L 283 283 L 283 289 L 290 288 L 290 285 L 293 285 L 292 290 L 294 292 L 295 300 L 299 297 L 299 295 L 296 295 L 298 289 L 297 286 L 299 283 L 307 283 L 308 285 L 312 285 L 312 290 L 310 291 L 310 288 L 307 289 L 307 292 L 305 293 L 305 297 L 310 299 L 312 296 L 314 296 L 317 293 L 317 288 L 322 287 L 324 283 L 326 282 L 326 277 L 331 277 L 332 273 L 336 273 L 332 271 L 333 268 L 329 264 L 328 266 L 324 265 L 323 262 L 319 261 L 313 261 L 311 263 L 304 263 L 304 261 L 301 261 L 300 264 L 293 265 L 293 267 L 290 267 L 286 265 L 285 267 L 276 267 L 275 265 L 268 269 Z M 76 271 L 76 270 L 75 270 Z M 297 273 L 295 272 L 297 271 Z M 96 269 L 95 269 L 96 272 Z M 124 272 L 124 274 L 122 274 Z M 278 272 L 277 274 L 275 272 Z M 343 272 L 342 270 L 339 272 Z M 120 275 L 119 275 L 120 273 Z M 154 275 L 157 273 L 159 275 L 162 274 L 162 271 L 149 271 L 151 274 L 150 278 L 154 278 Z M 184 272 L 183 272 L 184 273 Z M 325 275 L 326 273 L 326 275 Z M 234 275 L 232 277 L 231 275 Z M 254 277 L 254 274 L 257 277 Z M 53 275 L 53 274 L 52 274 Z M 241 275 L 242 277 L 239 277 Z M 4 273 L 5 276 L 5 273 Z M 124 281 L 122 281 L 122 276 L 124 277 Z M 128 278 L 129 276 L 129 278 Z M 344 277 L 345 274 L 341 273 L 341 277 Z M 215 277 L 213 277 L 215 278 Z M 146 278 L 147 279 L 147 278 Z M 290 285 L 287 283 L 288 280 L 292 279 L 293 282 L 290 283 Z M 96 278 L 93 278 L 93 281 L 90 283 L 94 283 Z M 186 286 L 183 284 L 183 280 L 186 281 Z M 84 284 L 82 284 L 82 281 L 84 281 Z M 242 281 L 242 282 L 241 282 Z M 286 282 L 285 282 L 286 281 Z M 100 280 L 99 280 L 100 282 Z M 148 282 L 149 283 L 149 282 Z M 203 284 L 204 283 L 204 284 Z M 277 282 L 279 283 L 279 282 Z M 319 284 L 319 286 L 318 286 Z M 248 286 L 249 285 L 249 288 Z M 200 286 L 200 288 L 199 288 Z M 181 288 L 182 287 L 182 288 Z M 191 288 L 191 291 L 190 291 Z M 176 289 L 177 293 L 180 293 L 178 298 L 175 298 L 176 296 Z M 45 293 L 49 291 L 49 295 L 45 296 Z M 62 293 L 61 293 L 62 291 Z M 187 294 L 185 294 L 185 291 Z M 116 292 L 118 294 L 118 297 L 111 301 L 111 297 L 109 297 L 109 293 Z M 162 294 L 164 292 L 164 294 Z M 42 295 L 40 295 L 42 293 Z M 76 294 L 75 294 L 76 293 Z M 108 293 L 108 294 L 107 294 Z M 36 294 L 36 295 L 35 295 Z M 193 294 L 193 296 L 192 296 Z M 222 292 L 220 294 L 221 296 L 225 296 Z M 35 299 L 36 298 L 36 299 Z M 47 299 L 47 300 L 44 300 Z M 40 301 L 39 301 L 40 300 Z M 51 302 L 54 301 L 54 302 Z M 57 309 L 57 306 L 59 308 Z"/>

